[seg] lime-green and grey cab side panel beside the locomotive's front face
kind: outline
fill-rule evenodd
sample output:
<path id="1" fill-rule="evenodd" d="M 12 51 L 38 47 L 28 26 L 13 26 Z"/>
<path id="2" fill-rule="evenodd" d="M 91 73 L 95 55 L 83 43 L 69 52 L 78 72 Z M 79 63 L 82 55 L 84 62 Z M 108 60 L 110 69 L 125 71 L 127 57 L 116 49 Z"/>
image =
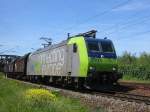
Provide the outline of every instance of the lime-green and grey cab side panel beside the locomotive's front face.
<path id="1" fill-rule="evenodd" d="M 68 45 L 74 44 L 76 44 L 77 53 L 72 54 L 72 73 L 78 77 L 87 77 L 88 54 L 84 37 L 79 36 L 68 40 Z"/>

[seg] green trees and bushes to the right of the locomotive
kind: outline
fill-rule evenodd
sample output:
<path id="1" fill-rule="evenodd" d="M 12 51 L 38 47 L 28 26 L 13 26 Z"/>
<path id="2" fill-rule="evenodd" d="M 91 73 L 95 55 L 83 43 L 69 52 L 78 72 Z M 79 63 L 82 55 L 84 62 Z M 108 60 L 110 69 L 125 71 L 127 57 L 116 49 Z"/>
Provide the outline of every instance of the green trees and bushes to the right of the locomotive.
<path id="1" fill-rule="evenodd" d="M 150 80 L 150 54 L 143 52 L 139 56 L 124 52 L 118 57 L 119 71 L 124 79 Z"/>

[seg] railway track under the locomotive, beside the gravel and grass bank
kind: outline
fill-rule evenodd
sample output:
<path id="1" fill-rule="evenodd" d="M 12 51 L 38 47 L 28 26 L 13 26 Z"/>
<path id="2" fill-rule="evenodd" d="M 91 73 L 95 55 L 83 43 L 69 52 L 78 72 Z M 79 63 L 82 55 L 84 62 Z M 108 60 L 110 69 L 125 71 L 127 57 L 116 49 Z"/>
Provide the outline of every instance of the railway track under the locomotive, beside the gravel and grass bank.
<path id="1" fill-rule="evenodd" d="M 11 80 L 16 80 L 9 78 Z M 20 81 L 20 80 L 17 80 Z M 93 91 L 90 89 L 85 89 L 85 90 L 73 90 L 69 88 L 62 88 L 58 86 L 49 86 L 49 85 L 44 85 L 44 84 L 37 84 L 37 83 L 31 83 L 27 81 L 20 81 L 22 83 L 26 84 L 33 84 L 34 86 L 41 87 L 41 88 L 53 88 L 53 90 L 57 91 L 71 91 L 71 92 L 77 92 L 81 94 L 89 94 L 89 95 L 95 95 L 95 96 L 101 96 L 101 97 L 107 97 L 107 98 L 113 98 L 116 100 L 122 100 L 122 101 L 129 101 L 129 102 L 136 102 L 136 103 L 144 103 L 146 105 L 150 105 L 150 97 L 149 96 L 141 96 L 141 95 L 135 95 L 135 94 L 129 94 L 125 92 L 117 92 L 117 91 Z"/>

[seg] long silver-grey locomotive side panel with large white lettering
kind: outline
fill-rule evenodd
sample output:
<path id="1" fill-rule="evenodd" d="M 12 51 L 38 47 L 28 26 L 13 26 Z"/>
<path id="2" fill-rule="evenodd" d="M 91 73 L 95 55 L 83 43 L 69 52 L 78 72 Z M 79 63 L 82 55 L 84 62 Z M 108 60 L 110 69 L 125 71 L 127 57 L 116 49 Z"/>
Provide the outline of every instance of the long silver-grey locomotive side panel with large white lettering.
<path id="1" fill-rule="evenodd" d="M 27 62 L 27 75 L 67 75 L 66 51 L 67 46 L 63 45 L 31 54 Z"/>

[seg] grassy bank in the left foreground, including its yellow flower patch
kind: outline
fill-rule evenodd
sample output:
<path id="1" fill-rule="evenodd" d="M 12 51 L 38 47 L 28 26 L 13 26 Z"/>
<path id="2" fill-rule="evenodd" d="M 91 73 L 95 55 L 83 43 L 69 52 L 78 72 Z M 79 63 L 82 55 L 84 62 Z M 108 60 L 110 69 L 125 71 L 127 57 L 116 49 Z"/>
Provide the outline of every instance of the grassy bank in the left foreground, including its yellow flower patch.
<path id="1" fill-rule="evenodd" d="M 5 79 L 0 73 L 0 112 L 89 112 L 79 100 Z M 102 112 L 97 109 L 96 112 Z"/>

